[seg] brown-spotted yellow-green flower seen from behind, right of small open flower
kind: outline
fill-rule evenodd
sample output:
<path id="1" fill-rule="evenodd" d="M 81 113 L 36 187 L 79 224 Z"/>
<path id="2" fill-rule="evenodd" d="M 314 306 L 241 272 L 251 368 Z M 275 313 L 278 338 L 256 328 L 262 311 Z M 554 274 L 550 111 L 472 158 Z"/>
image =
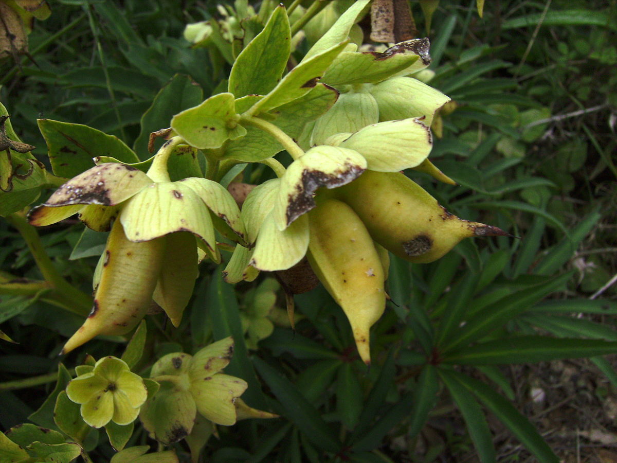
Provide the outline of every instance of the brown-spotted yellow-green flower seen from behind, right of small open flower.
<path id="1" fill-rule="evenodd" d="M 210 344 L 194 356 L 168 354 L 152 366 L 160 390 L 139 415 L 152 438 L 169 444 L 191 433 L 197 412 L 220 424 L 236 422 L 234 402 L 246 390 L 240 378 L 220 373 L 233 354 L 233 339 Z"/>

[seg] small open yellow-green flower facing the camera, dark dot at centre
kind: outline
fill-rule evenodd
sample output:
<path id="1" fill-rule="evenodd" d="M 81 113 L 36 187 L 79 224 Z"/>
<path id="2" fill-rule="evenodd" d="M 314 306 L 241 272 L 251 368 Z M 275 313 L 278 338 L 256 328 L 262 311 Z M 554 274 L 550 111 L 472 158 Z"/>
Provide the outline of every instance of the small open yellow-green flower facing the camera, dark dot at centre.
<path id="1" fill-rule="evenodd" d="M 132 423 L 147 398 L 139 375 L 131 373 L 125 362 L 103 357 L 89 373 L 78 376 L 67 386 L 68 398 L 81 404 L 81 417 L 94 428 L 113 421 Z"/>

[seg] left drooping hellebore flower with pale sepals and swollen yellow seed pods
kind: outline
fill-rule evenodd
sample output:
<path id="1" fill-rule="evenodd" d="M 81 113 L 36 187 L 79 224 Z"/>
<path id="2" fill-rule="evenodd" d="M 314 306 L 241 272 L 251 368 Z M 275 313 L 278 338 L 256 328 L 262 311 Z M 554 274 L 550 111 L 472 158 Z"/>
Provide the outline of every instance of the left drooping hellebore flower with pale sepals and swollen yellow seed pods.
<path id="1" fill-rule="evenodd" d="M 86 170 L 30 212 L 38 226 L 77 213 L 93 230 L 111 228 L 95 273 L 93 311 L 65 353 L 96 335 L 130 332 L 152 299 L 177 327 L 198 275 L 198 249 L 220 261 L 214 223 L 242 241 L 240 211 L 223 186 L 205 178 L 170 181 L 168 157 L 180 143 L 168 140 L 147 173 L 120 163 Z"/>

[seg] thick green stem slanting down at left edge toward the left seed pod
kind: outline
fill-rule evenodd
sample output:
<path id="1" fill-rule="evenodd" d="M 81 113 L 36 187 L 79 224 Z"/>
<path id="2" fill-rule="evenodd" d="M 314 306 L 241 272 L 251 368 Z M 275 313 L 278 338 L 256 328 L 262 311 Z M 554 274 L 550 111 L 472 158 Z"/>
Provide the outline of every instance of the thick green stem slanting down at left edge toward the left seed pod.
<path id="1" fill-rule="evenodd" d="M 70 301 L 68 309 L 78 315 L 88 315 L 92 307 L 92 298 L 88 294 L 83 293 L 77 288 L 73 288 L 67 280 L 60 275 L 60 272 L 54 267 L 51 259 L 43 248 L 41 237 L 36 232 L 36 228 L 30 225 L 22 215 L 17 213 L 7 215 L 6 220 L 17 228 L 22 238 L 26 241 L 28 249 L 35 259 L 36 265 L 41 270 L 43 278 L 54 288 L 58 293 L 62 294 L 63 299 Z"/>

